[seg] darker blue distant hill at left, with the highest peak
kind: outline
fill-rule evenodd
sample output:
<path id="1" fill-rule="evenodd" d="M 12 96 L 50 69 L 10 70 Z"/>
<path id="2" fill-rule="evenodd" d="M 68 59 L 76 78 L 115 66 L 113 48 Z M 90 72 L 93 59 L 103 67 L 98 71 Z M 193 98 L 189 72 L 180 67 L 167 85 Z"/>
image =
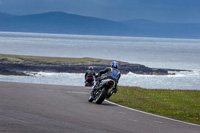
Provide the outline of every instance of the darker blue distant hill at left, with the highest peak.
<path id="1" fill-rule="evenodd" d="M 62 12 L 12 16 L 0 15 L 0 31 L 123 35 L 129 27 L 119 22 Z"/>

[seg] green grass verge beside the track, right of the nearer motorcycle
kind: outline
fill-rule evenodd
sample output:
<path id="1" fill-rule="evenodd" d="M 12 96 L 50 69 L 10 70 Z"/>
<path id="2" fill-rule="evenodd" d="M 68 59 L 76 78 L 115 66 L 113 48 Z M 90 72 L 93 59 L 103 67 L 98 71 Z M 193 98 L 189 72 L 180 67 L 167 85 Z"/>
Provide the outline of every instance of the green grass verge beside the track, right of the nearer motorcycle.
<path id="1" fill-rule="evenodd" d="M 119 87 L 110 101 L 145 112 L 200 124 L 200 91 Z"/>

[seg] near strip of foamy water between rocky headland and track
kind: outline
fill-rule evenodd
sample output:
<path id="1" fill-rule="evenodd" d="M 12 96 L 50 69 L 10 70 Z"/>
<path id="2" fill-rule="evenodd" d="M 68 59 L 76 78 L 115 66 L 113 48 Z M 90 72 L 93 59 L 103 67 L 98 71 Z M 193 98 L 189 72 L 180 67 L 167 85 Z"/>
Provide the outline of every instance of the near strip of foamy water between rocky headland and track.
<path id="1" fill-rule="evenodd" d="M 84 86 L 84 73 L 32 73 L 32 76 L 4 76 L 0 81 Z M 200 71 L 176 72 L 176 75 L 122 74 L 120 86 L 139 86 L 147 89 L 200 90 Z"/>

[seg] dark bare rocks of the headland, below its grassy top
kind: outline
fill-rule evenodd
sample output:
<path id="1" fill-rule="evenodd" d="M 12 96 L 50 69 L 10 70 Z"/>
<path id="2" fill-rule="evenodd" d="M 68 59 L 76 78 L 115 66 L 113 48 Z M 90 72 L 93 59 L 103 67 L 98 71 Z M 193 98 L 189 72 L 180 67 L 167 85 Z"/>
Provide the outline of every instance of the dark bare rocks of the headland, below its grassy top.
<path id="1" fill-rule="evenodd" d="M 168 69 L 149 68 L 140 64 L 119 62 L 121 73 L 132 72 L 145 75 L 168 75 Z M 13 62 L 7 58 L 0 59 L 0 74 L 26 76 L 25 72 L 67 72 L 85 73 L 89 66 L 93 66 L 96 72 L 108 67 L 107 63 L 74 63 L 74 62 Z"/>

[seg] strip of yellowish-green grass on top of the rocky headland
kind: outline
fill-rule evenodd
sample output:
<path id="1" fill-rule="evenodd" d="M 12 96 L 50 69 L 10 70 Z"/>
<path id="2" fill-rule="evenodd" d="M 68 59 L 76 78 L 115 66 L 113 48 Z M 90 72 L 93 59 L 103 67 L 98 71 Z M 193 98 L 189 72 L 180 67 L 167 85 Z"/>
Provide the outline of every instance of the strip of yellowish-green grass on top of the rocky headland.
<path id="1" fill-rule="evenodd" d="M 23 63 L 26 61 L 38 63 L 76 63 L 84 64 L 109 64 L 111 60 L 95 59 L 95 58 L 61 58 L 61 57 L 40 57 L 40 56 L 22 56 L 22 55 L 7 55 L 0 54 L 1 59 L 8 59 L 12 63 Z"/>

